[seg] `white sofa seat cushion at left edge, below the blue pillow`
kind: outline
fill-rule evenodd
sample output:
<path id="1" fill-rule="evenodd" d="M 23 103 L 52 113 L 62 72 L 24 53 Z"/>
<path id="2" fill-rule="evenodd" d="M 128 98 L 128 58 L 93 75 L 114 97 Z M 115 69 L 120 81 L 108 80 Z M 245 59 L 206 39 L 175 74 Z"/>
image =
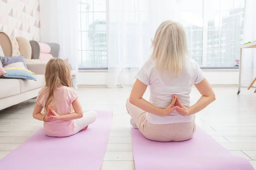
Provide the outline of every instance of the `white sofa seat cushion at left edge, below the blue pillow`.
<path id="1" fill-rule="evenodd" d="M 20 82 L 18 79 L 0 78 L 0 87 L 0 99 L 20 94 Z"/>

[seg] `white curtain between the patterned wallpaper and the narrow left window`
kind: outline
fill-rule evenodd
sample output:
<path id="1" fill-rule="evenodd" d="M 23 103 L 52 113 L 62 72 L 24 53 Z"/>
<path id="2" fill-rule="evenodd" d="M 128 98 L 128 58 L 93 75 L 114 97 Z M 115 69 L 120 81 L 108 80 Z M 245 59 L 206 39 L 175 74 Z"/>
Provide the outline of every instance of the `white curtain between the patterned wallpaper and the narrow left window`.
<path id="1" fill-rule="evenodd" d="M 72 70 L 78 71 L 78 1 L 40 0 L 40 22 L 41 42 L 58 43 L 59 58 L 68 59 Z"/>

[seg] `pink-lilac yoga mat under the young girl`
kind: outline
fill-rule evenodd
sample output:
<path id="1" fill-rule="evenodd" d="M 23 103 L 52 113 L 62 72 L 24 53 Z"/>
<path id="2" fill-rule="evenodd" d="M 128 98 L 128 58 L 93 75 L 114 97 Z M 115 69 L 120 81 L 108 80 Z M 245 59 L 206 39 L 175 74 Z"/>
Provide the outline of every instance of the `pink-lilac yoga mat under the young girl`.
<path id="1" fill-rule="evenodd" d="M 112 112 L 97 111 L 96 122 L 76 135 L 57 138 L 38 131 L 0 160 L 0 170 L 99 170 Z"/>

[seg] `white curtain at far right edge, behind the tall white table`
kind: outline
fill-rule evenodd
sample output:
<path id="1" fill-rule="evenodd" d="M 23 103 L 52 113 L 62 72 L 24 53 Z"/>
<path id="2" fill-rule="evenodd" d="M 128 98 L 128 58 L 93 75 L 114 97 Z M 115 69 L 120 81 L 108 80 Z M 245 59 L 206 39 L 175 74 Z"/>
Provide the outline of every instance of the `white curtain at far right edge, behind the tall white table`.
<path id="1" fill-rule="evenodd" d="M 246 0 L 243 42 L 256 40 L 256 0 Z M 256 77 L 256 49 L 246 48 L 242 52 L 241 85 L 248 87 Z M 256 86 L 256 83 L 254 83 Z"/>

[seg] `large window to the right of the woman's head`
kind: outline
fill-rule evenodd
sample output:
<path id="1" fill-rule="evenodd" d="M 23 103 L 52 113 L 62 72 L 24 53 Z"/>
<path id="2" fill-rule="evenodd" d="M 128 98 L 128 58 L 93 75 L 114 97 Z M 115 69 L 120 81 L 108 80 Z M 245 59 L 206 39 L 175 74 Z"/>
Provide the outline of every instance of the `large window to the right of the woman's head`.
<path id="1" fill-rule="evenodd" d="M 199 65 L 236 65 L 243 42 L 244 5 L 245 0 L 180 0 L 189 52 Z"/>

